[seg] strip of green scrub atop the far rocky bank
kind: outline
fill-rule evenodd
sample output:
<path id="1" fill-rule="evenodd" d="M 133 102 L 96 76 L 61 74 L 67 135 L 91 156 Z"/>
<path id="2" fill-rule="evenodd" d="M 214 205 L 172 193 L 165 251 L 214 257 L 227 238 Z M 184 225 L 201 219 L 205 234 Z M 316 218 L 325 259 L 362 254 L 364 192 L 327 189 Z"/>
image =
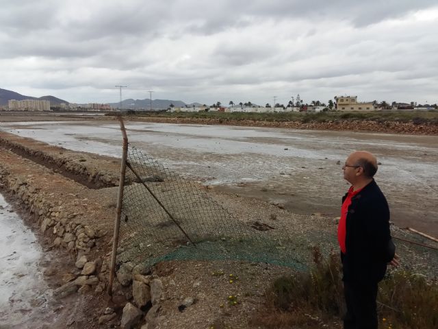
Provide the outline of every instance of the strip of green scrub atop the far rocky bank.
<path id="1" fill-rule="evenodd" d="M 109 114 L 114 115 L 114 114 Z M 219 123 L 227 121 L 300 121 L 329 122 L 329 121 L 398 121 L 413 122 L 414 124 L 438 124 L 438 110 L 429 111 L 373 111 L 373 112 L 283 112 L 283 113 L 246 113 L 246 112 L 164 112 L 164 111 L 133 111 L 123 114 L 130 117 L 164 117 L 183 119 L 217 119 Z"/>

